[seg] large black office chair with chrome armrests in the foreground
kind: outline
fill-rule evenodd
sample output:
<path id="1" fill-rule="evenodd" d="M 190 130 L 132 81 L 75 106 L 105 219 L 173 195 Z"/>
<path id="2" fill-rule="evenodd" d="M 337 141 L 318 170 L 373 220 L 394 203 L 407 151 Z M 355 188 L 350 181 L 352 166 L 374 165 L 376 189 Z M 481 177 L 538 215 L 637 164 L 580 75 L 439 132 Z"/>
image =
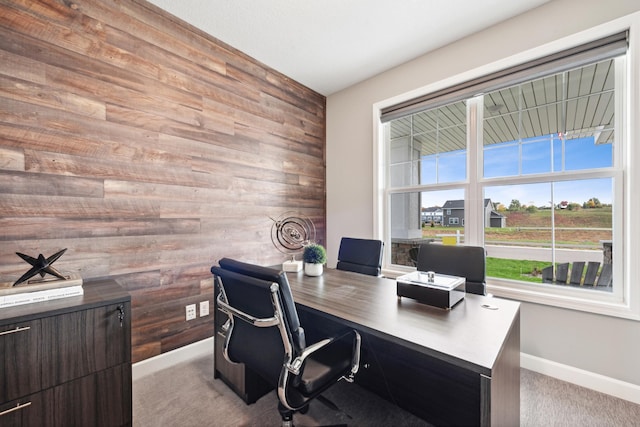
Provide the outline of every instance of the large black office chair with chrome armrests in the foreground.
<path id="1" fill-rule="evenodd" d="M 211 272 L 218 307 L 229 317 L 224 356 L 244 363 L 277 389 L 283 426 L 293 413 L 341 379 L 353 381 L 360 365 L 360 334 L 347 330 L 307 346 L 284 272 L 223 258 Z"/>

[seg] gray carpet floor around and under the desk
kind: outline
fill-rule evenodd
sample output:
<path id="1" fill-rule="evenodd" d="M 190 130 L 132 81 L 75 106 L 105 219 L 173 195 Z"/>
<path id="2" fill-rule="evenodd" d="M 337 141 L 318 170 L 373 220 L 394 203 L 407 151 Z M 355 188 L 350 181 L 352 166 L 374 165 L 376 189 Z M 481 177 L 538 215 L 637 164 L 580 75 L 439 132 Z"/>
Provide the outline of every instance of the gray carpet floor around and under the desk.
<path id="1" fill-rule="evenodd" d="M 313 402 L 307 414 L 295 415 L 296 426 L 428 426 L 355 384 L 342 381 L 324 395 L 341 412 Z M 133 425 L 278 426 L 276 402 L 271 392 L 245 405 L 213 379 L 213 356 L 208 356 L 134 381 Z M 520 416 L 523 427 L 631 427 L 640 425 L 640 405 L 522 369 Z"/>

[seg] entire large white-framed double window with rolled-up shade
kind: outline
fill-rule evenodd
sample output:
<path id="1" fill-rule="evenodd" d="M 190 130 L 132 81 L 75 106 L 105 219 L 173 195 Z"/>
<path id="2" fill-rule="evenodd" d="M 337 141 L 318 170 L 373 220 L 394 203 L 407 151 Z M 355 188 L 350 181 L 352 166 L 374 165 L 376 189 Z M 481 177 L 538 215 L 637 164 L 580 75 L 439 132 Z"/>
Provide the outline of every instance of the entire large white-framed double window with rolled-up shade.
<path id="1" fill-rule="evenodd" d="M 550 57 L 382 109 L 387 268 L 467 243 L 506 295 L 628 300 L 627 34 Z"/>

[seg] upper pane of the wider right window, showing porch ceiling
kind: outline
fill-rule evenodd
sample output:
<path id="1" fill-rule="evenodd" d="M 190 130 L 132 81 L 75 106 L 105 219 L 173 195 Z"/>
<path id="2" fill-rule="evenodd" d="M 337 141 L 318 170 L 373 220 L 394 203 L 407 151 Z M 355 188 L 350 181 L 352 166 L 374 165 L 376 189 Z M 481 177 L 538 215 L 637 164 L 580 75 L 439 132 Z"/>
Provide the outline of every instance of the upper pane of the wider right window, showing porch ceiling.
<path id="1" fill-rule="evenodd" d="M 613 166 L 614 60 L 484 96 L 484 176 Z"/>

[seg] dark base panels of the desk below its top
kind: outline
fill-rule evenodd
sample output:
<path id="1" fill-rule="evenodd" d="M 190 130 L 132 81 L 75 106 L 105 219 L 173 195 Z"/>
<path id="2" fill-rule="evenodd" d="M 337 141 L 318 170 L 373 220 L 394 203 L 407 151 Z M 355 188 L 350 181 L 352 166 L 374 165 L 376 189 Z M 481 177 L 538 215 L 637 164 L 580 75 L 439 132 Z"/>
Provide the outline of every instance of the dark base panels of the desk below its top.
<path id="1" fill-rule="evenodd" d="M 345 329 L 313 309 L 298 307 L 298 314 L 311 340 Z M 434 425 L 519 425 L 519 318 L 492 377 L 359 332 L 362 358 L 356 383 L 362 387 Z"/>

